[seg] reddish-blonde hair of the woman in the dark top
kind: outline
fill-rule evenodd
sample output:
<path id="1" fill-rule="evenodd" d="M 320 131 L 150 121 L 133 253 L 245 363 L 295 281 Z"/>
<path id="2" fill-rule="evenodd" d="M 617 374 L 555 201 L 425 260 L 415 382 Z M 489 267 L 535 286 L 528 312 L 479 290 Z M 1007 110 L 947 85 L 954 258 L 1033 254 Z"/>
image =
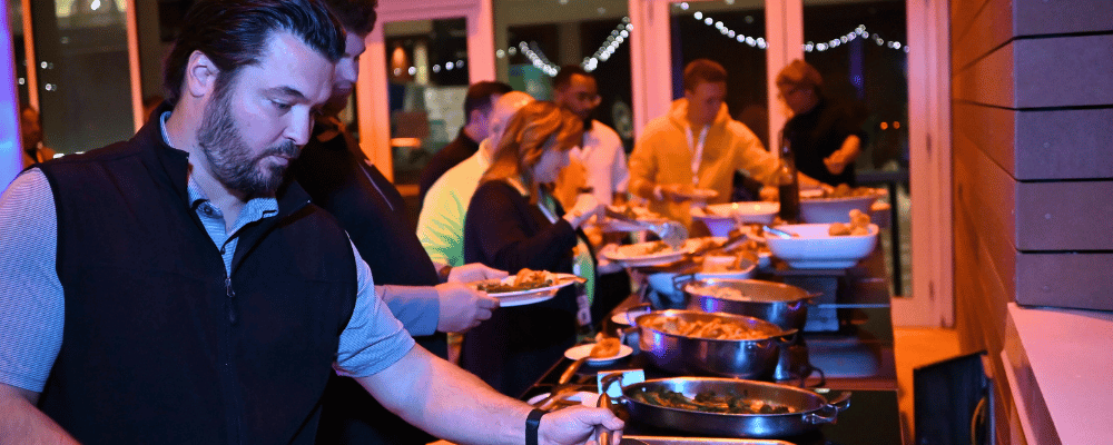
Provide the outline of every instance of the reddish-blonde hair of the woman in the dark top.
<path id="1" fill-rule="evenodd" d="M 568 151 L 582 140 L 583 121 L 574 113 L 553 102 L 530 102 L 510 118 L 480 184 L 520 178 L 530 191 L 530 202 L 536 202 L 540 185 L 533 181 L 533 167 L 541 156 L 549 150 Z"/>

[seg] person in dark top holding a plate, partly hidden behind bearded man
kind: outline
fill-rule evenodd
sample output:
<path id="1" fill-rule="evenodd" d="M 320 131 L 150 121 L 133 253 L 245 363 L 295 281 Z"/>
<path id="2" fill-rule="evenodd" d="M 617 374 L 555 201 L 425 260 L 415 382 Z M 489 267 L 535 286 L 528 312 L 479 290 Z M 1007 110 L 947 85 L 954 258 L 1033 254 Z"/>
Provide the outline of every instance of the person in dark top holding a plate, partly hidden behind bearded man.
<path id="1" fill-rule="evenodd" d="M 315 119 L 309 141 L 290 171 L 313 202 L 332 214 L 372 270 L 376 290 L 420 345 L 444 358 L 445 332 L 474 327 L 491 316 L 498 300 L 455 280 L 505 276 L 482 265 L 455 273 L 434 264 L 405 220 L 397 188 L 370 164 L 338 113 L 357 78 L 355 63 L 374 26 L 374 1 L 326 0 L 347 31 L 336 65 L 333 96 Z M 439 270 L 440 269 L 440 270 Z M 476 270 L 477 269 L 477 270 Z M 444 274 L 441 274 L 444 271 Z M 390 413 L 359 383 L 333 375 L 322 399 L 317 443 L 426 444 L 434 438 Z"/>

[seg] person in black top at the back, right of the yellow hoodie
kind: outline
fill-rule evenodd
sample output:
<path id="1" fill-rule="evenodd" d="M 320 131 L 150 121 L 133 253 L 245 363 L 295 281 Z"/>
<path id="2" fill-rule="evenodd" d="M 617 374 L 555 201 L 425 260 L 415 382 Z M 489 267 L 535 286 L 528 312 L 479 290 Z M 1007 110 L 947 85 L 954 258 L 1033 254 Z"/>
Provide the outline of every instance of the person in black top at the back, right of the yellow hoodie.
<path id="1" fill-rule="evenodd" d="M 823 83 L 819 71 L 799 59 L 777 75 L 778 96 L 795 115 L 785 123 L 785 139 L 801 174 L 831 186 L 854 186 L 854 160 L 866 132 L 848 110 L 824 96 Z"/>

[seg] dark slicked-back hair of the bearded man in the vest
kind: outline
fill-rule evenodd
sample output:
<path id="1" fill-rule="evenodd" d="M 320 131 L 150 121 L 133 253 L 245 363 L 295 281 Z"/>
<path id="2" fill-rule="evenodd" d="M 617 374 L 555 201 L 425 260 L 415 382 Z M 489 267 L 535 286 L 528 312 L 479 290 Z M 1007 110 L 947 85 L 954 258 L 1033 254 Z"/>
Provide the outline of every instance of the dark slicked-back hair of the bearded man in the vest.
<path id="1" fill-rule="evenodd" d="M 162 88 L 174 105 L 181 96 L 186 66 L 200 51 L 220 70 L 217 89 L 239 69 L 258 63 L 267 40 L 278 31 L 297 36 L 328 61 L 344 55 L 344 29 L 319 0 L 201 0 L 186 13 L 181 33 L 166 58 Z"/>

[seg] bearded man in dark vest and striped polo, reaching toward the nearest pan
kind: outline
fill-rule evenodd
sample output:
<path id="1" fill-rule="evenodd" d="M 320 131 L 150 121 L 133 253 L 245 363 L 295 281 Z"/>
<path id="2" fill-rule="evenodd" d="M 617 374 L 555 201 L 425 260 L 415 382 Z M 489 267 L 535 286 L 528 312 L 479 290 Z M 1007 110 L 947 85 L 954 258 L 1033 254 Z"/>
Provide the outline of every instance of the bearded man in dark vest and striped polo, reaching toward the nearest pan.
<path id="1" fill-rule="evenodd" d="M 285 179 L 344 51 L 322 4 L 199 1 L 184 23 L 173 108 L 0 196 L 0 442 L 313 443 L 333 366 L 456 443 L 621 428 L 587 407 L 528 422 L 415 347 L 344 231 Z"/>

